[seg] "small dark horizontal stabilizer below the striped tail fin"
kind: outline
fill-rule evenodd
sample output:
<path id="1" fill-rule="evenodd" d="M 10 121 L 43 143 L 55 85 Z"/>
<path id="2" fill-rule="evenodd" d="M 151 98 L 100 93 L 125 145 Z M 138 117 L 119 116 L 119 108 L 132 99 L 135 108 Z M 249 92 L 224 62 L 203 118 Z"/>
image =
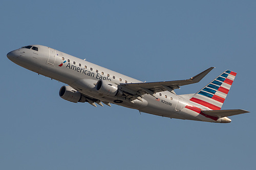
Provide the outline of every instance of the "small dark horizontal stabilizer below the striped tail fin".
<path id="1" fill-rule="evenodd" d="M 231 110 L 202 110 L 201 112 L 210 116 L 215 116 L 215 117 L 227 117 L 227 116 L 248 113 L 249 111 L 242 110 L 242 109 L 231 109 Z"/>

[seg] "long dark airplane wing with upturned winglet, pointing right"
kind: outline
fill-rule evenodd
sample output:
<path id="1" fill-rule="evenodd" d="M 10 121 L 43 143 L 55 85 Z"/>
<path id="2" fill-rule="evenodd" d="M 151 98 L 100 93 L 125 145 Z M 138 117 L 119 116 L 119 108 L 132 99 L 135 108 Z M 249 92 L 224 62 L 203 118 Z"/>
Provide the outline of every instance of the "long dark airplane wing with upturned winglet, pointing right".
<path id="1" fill-rule="evenodd" d="M 175 81 L 164 81 L 164 82 L 150 82 L 150 83 L 127 83 L 127 84 L 120 84 L 119 87 L 123 91 L 133 94 L 134 92 L 138 92 L 138 95 L 143 95 L 145 93 L 151 94 L 154 96 L 154 93 L 160 91 L 170 91 L 175 93 L 173 90 L 180 88 L 180 86 L 198 83 L 202 80 L 212 69 L 215 67 L 210 67 L 200 74 L 186 80 L 175 80 Z M 132 96 L 132 95 L 131 95 Z"/>

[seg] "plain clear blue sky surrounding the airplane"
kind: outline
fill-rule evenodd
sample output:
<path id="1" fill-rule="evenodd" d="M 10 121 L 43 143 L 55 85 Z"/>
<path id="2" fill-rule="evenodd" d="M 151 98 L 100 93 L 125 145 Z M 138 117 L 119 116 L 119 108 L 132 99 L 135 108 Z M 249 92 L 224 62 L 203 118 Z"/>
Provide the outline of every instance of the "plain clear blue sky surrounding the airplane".
<path id="1" fill-rule="evenodd" d="M 2 1 L 1 169 L 254 169 L 255 1 Z M 162 118 L 58 96 L 64 85 L 6 54 L 50 46 L 141 81 L 238 72 L 222 109 L 230 124 Z"/>

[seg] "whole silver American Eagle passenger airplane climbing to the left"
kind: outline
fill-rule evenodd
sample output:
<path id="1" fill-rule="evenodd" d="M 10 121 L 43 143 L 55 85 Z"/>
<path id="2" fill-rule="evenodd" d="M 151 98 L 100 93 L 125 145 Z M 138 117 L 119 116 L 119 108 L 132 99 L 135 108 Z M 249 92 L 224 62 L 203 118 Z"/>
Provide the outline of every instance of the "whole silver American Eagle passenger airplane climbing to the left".
<path id="1" fill-rule="evenodd" d="M 186 80 L 141 82 L 43 45 L 23 46 L 7 57 L 38 75 L 67 84 L 60 88 L 59 96 L 73 103 L 87 102 L 95 107 L 116 104 L 140 113 L 211 123 L 230 123 L 227 116 L 249 112 L 221 110 L 237 75 L 231 70 L 225 70 L 195 94 L 177 95 L 175 89 L 198 83 L 215 67 Z"/>

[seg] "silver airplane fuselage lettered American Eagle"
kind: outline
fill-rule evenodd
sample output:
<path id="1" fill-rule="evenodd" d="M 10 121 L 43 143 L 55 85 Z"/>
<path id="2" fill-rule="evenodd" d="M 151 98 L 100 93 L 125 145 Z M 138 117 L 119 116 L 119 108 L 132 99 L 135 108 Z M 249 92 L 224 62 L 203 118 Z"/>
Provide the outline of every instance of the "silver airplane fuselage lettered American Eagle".
<path id="1" fill-rule="evenodd" d="M 99 80 L 108 80 L 117 85 L 121 83 L 141 83 L 141 81 L 47 46 L 32 46 L 38 47 L 38 51 L 28 48 L 19 48 L 8 53 L 7 57 L 14 63 L 34 71 L 39 75 L 44 75 L 66 83 L 82 94 L 90 96 L 92 99 L 98 99 L 99 101 L 114 103 L 120 106 L 137 109 L 140 112 L 164 117 L 215 123 L 229 122 L 227 118 L 214 120 L 185 108 L 187 105 L 200 106 L 170 91 L 157 92 L 155 94 L 157 99 L 152 95 L 143 94 L 141 96 L 142 100 L 136 99 L 133 102 L 125 100 L 122 96 L 103 95 L 95 88 Z M 114 101 L 116 100 L 122 101 L 122 103 L 115 103 Z"/>

